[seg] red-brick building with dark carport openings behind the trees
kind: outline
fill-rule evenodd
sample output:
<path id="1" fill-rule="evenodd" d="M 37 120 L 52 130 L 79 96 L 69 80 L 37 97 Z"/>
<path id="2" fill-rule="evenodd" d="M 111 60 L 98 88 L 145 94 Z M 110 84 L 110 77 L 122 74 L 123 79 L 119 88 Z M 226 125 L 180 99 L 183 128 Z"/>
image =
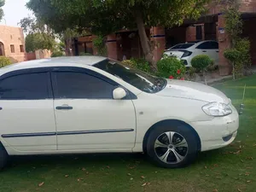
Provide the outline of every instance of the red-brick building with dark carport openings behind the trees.
<path id="1" fill-rule="evenodd" d="M 248 38 L 251 43 L 252 64 L 256 65 L 256 0 L 241 1 L 241 19 L 243 20 L 242 38 Z M 154 46 L 154 60 L 160 60 L 164 49 L 175 44 L 196 40 L 217 40 L 219 44 L 219 73 L 227 75 L 231 73 L 229 62 L 224 58 L 224 50 L 230 47 L 230 39 L 225 32 L 224 1 L 212 1 L 208 5 L 207 15 L 199 20 L 184 20 L 182 26 L 172 28 L 151 27 L 147 30 L 148 37 Z M 73 44 L 74 55 L 86 52 L 95 55 L 92 39 L 95 36 L 76 38 Z M 123 56 L 142 57 L 143 50 L 140 45 L 137 30 L 122 30 L 108 35 L 108 57 L 121 61 Z"/>

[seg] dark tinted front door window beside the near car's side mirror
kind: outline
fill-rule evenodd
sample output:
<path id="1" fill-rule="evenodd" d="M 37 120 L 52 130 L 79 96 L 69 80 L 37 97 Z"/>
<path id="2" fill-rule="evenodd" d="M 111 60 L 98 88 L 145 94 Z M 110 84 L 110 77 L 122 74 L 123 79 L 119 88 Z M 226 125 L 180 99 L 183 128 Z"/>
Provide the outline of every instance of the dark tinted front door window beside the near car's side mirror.
<path id="1" fill-rule="evenodd" d="M 55 98 L 112 99 L 115 86 L 79 72 L 55 72 Z"/>

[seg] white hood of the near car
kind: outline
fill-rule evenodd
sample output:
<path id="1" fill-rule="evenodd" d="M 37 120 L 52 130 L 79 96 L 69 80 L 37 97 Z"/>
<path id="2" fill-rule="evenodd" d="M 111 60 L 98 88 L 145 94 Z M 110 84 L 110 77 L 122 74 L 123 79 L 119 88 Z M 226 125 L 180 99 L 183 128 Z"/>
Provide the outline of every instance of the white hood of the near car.
<path id="1" fill-rule="evenodd" d="M 166 80 L 166 88 L 156 93 L 157 95 L 194 99 L 203 102 L 223 102 L 226 104 L 230 102 L 224 93 L 205 84 L 183 80 Z"/>

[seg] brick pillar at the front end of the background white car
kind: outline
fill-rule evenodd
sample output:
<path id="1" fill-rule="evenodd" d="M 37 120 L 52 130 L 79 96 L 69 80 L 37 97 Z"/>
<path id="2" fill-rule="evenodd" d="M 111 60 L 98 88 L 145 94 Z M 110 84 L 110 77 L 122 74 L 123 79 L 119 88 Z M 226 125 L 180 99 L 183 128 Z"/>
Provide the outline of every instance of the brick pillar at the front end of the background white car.
<path id="1" fill-rule="evenodd" d="M 218 67 L 220 75 L 229 75 L 232 72 L 232 67 L 227 59 L 224 58 L 225 49 L 230 48 L 230 38 L 227 32 L 225 31 L 225 19 L 223 14 L 218 14 Z"/>

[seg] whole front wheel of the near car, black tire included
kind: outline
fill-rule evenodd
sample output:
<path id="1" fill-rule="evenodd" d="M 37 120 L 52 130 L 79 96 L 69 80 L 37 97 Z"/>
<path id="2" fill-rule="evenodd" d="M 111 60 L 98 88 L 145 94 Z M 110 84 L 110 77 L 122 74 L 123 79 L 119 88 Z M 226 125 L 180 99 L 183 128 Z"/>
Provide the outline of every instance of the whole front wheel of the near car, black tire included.
<path id="1" fill-rule="evenodd" d="M 198 153 L 195 133 L 186 125 L 159 125 L 150 131 L 147 152 L 157 166 L 180 168 L 188 166 Z"/>

